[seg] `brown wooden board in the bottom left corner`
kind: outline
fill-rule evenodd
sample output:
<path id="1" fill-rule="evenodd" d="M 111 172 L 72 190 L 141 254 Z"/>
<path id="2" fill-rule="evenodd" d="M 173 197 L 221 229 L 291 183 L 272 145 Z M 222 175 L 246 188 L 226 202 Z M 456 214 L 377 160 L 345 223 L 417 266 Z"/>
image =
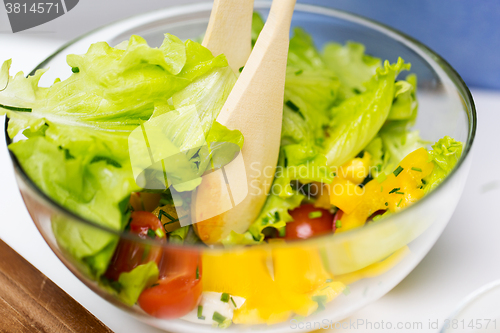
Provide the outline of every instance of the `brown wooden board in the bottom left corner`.
<path id="1" fill-rule="evenodd" d="M 2 240 L 0 332 L 112 333 Z"/>

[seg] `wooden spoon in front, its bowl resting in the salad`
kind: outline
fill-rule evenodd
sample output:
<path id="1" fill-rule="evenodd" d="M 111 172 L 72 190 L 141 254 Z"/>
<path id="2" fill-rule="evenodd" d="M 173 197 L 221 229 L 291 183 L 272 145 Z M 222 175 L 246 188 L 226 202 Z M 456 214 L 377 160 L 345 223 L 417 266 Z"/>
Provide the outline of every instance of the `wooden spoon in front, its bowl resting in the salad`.
<path id="1" fill-rule="evenodd" d="M 207 244 L 220 243 L 232 230 L 248 230 L 271 187 L 280 147 L 294 6 L 295 0 L 274 0 L 245 68 L 217 118 L 229 129 L 240 130 L 245 143 L 240 155 L 223 170 L 205 175 L 194 194 L 194 227 Z"/>

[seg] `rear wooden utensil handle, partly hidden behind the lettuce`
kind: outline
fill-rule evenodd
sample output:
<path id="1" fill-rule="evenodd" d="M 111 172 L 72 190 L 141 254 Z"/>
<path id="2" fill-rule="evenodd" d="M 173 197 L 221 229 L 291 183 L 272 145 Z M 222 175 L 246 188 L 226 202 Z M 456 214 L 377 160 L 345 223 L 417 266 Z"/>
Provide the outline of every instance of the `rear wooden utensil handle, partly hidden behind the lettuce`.
<path id="1" fill-rule="evenodd" d="M 202 45 L 214 56 L 221 53 L 235 73 L 252 51 L 253 0 L 214 0 Z"/>

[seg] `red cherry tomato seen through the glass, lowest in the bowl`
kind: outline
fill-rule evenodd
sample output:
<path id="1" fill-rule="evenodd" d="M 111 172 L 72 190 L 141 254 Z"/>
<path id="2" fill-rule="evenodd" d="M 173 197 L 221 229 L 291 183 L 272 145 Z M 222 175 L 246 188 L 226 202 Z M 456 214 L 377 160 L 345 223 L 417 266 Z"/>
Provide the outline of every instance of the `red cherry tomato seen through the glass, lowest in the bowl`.
<path id="1" fill-rule="evenodd" d="M 202 292 L 201 256 L 196 250 L 166 248 L 160 280 L 139 296 L 139 306 L 163 319 L 179 318 L 196 307 Z"/>

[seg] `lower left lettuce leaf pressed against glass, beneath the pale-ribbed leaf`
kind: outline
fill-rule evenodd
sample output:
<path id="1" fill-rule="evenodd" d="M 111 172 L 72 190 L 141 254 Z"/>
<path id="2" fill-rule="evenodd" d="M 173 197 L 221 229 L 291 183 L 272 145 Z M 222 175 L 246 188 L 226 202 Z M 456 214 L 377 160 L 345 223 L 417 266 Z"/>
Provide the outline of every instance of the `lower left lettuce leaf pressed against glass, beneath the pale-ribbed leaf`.
<path id="1" fill-rule="evenodd" d="M 51 126 L 45 132 L 49 130 L 52 131 Z M 121 230 L 127 218 L 122 203 L 139 188 L 126 161 L 120 164 L 112 155 L 107 159 L 98 144 L 88 143 L 82 143 L 88 155 L 73 155 L 59 143 L 51 142 L 50 137 L 35 135 L 11 144 L 9 149 L 30 179 L 53 200 L 83 218 Z M 65 216 L 54 216 L 52 228 L 59 246 L 89 266 L 89 275 L 99 276 L 106 270 L 116 236 Z"/>

